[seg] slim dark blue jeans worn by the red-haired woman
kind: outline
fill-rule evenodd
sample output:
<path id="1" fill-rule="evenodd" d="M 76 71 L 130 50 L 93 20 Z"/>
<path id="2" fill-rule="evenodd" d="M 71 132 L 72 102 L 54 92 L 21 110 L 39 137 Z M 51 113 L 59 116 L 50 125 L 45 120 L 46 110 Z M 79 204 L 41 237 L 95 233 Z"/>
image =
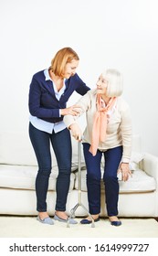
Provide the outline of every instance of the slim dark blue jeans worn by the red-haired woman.
<path id="1" fill-rule="evenodd" d="M 50 144 L 52 144 L 58 162 L 56 210 L 65 211 L 71 173 L 72 148 L 70 133 L 68 129 L 64 129 L 61 132 L 49 134 L 39 131 L 29 123 L 29 136 L 38 164 L 36 178 L 37 211 L 47 211 L 48 179 L 52 168 Z"/>

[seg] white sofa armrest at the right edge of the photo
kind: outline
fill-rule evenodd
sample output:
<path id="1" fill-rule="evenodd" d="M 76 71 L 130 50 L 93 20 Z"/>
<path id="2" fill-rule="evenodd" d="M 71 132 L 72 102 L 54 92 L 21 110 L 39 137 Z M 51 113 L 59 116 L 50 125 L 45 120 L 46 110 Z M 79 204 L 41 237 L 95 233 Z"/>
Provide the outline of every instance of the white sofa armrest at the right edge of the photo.
<path id="1" fill-rule="evenodd" d="M 144 153 L 140 167 L 149 176 L 153 176 L 158 184 L 158 157 L 149 153 Z"/>

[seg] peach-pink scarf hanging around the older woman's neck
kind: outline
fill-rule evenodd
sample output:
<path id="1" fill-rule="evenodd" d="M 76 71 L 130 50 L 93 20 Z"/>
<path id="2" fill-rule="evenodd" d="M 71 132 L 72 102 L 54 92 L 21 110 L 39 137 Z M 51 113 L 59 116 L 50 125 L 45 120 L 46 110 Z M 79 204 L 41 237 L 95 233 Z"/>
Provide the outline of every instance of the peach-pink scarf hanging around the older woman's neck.
<path id="1" fill-rule="evenodd" d="M 100 142 L 104 142 L 106 138 L 107 130 L 107 112 L 111 110 L 116 97 L 111 98 L 105 108 L 101 107 L 101 96 L 97 94 L 97 112 L 94 115 L 94 123 L 92 127 L 92 139 L 90 145 L 90 153 L 94 156 L 97 153 L 98 145 Z"/>

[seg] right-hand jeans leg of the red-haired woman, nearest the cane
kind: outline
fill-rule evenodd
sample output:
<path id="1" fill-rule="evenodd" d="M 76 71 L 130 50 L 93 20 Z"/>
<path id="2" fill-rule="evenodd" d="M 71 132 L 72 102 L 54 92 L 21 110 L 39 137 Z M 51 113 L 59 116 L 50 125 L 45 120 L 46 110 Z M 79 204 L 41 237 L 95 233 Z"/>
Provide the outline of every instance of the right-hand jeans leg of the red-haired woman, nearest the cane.
<path id="1" fill-rule="evenodd" d="M 71 173 L 71 138 L 68 129 L 53 133 L 51 143 L 58 162 L 56 210 L 65 211 Z"/>

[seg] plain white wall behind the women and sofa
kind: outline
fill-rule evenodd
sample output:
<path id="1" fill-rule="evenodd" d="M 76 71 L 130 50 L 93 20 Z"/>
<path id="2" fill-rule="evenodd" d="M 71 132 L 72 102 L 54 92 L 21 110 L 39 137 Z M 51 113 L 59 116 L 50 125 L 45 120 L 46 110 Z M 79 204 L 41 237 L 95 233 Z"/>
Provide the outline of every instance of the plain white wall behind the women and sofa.
<path id="1" fill-rule="evenodd" d="M 32 75 L 69 46 L 91 88 L 102 69 L 121 70 L 133 133 L 158 155 L 157 9 L 156 0 L 0 0 L 1 132 L 27 133 Z"/>

